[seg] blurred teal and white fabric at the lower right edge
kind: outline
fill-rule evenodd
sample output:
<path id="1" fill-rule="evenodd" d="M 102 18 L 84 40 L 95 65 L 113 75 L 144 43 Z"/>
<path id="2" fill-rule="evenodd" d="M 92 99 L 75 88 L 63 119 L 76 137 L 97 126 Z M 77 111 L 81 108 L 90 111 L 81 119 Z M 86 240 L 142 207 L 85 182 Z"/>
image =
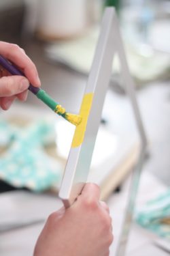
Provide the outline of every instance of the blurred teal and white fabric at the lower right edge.
<path id="1" fill-rule="evenodd" d="M 170 189 L 138 210 L 136 221 L 158 236 L 170 240 Z"/>

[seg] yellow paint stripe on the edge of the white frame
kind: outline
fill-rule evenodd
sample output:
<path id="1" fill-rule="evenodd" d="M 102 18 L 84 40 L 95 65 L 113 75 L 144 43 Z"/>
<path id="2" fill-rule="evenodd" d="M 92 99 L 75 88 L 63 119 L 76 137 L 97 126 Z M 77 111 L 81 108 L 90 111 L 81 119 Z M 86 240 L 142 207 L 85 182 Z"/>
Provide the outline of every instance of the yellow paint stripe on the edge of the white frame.
<path id="1" fill-rule="evenodd" d="M 84 98 L 82 100 L 82 106 L 80 108 L 80 116 L 82 117 L 82 122 L 75 128 L 71 147 L 79 147 L 84 140 L 84 133 L 86 132 L 86 124 L 92 105 L 92 98 L 92 93 L 84 95 Z"/>

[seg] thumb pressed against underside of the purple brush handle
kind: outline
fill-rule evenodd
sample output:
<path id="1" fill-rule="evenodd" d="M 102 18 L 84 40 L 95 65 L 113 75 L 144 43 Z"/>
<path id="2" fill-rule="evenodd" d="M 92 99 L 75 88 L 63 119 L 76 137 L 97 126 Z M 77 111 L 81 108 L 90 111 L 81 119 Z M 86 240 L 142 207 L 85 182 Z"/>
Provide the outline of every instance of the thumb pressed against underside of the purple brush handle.
<path id="1" fill-rule="evenodd" d="M 24 76 L 3 76 L 0 79 L 0 97 L 19 94 L 29 87 L 29 81 Z"/>

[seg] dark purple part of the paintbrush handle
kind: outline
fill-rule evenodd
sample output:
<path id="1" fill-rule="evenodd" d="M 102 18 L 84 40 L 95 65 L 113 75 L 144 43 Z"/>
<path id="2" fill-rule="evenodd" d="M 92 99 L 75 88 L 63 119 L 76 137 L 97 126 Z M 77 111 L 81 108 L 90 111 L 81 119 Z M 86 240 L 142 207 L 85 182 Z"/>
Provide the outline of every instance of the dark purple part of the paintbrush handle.
<path id="1" fill-rule="evenodd" d="M 24 73 L 22 73 L 20 70 L 18 70 L 18 68 L 16 68 L 14 65 L 12 65 L 12 63 L 10 63 L 9 61 L 7 61 L 7 59 L 5 59 L 4 57 L 2 57 L 0 55 L 0 65 L 3 66 L 3 68 L 5 68 L 5 70 L 9 71 L 11 74 L 14 75 L 18 75 L 18 76 L 25 76 Z M 39 88 L 34 87 L 33 85 L 29 85 L 29 90 L 33 93 L 33 94 L 37 94 L 37 92 L 39 91 Z"/>

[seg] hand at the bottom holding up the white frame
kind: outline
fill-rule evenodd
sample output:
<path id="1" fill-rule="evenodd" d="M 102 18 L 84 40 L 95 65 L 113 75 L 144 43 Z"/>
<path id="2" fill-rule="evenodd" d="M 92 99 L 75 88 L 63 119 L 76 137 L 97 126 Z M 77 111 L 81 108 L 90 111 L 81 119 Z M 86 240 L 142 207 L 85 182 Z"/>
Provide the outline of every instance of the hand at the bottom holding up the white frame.
<path id="1" fill-rule="evenodd" d="M 97 185 L 86 184 L 70 208 L 52 213 L 37 240 L 34 256 L 108 256 L 112 220 L 99 194 Z"/>

